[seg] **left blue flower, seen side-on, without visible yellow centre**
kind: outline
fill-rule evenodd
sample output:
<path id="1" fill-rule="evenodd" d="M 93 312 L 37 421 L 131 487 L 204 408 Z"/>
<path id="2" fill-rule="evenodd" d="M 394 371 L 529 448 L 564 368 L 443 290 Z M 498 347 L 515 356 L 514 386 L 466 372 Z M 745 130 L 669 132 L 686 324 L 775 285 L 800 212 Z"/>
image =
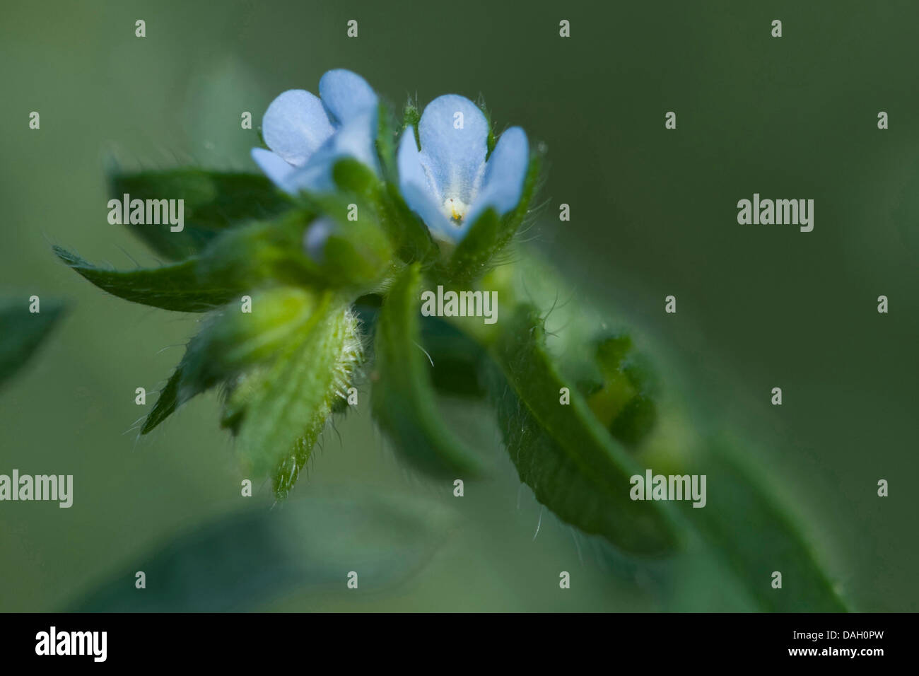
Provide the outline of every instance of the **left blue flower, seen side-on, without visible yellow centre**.
<path id="1" fill-rule="evenodd" d="M 252 158 L 278 188 L 335 189 L 332 167 L 354 157 L 379 173 L 377 95 L 363 77 L 343 69 L 323 74 L 317 97 L 290 89 L 271 102 L 262 118 L 262 135 L 271 151 L 253 148 Z"/>

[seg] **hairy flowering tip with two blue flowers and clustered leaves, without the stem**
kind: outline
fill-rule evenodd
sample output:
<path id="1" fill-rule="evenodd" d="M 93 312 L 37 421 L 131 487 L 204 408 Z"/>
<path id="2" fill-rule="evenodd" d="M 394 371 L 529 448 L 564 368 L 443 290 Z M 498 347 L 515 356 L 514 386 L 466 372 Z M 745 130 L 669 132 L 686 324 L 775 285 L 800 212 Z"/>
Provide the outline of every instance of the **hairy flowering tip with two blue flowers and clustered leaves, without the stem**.
<path id="1" fill-rule="evenodd" d="M 208 313 L 141 433 L 218 387 L 221 426 L 247 471 L 270 475 L 282 498 L 328 419 L 357 405 L 371 372 L 374 418 L 410 462 L 474 475 L 473 454 L 432 404 L 419 295 L 454 282 L 474 287 L 502 260 L 538 175 L 526 133 L 512 127 L 495 142 L 482 109 L 456 95 L 420 115 L 410 105 L 397 121 L 346 70 L 323 74 L 318 97 L 293 89 L 275 98 L 261 132 L 267 148 L 252 156 L 262 174 L 179 168 L 110 177 L 113 195 L 184 205 L 176 231 L 125 221 L 170 265 L 102 269 L 56 249 L 107 292 Z"/>

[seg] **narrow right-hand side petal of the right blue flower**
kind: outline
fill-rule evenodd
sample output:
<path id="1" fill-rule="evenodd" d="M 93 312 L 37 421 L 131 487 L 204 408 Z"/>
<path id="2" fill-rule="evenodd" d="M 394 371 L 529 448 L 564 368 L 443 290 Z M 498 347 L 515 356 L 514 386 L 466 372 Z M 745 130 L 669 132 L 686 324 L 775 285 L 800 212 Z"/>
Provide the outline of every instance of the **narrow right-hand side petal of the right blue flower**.
<path id="1" fill-rule="evenodd" d="M 520 127 L 511 127 L 501 134 L 492 155 L 485 165 L 482 189 L 476 195 L 466 218 L 464 230 L 468 229 L 488 207 L 498 215 L 504 215 L 516 207 L 523 195 L 529 166 L 529 143 L 527 132 Z"/>

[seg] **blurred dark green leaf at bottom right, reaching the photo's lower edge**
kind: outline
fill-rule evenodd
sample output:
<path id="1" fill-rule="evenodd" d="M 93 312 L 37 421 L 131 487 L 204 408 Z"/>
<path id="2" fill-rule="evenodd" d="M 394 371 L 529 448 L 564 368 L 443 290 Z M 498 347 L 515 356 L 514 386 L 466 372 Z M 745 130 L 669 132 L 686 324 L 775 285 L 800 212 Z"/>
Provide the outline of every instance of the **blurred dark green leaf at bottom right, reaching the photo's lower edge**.
<path id="1" fill-rule="evenodd" d="M 811 544 L 736 446 L 709 440 L 707 451 L 679 474 L 706 475 L 707 503 L 684 503 L 686 520 L 698 528 L 715 553 L 765 611 L 774 613 L 845 613 L 846 602 Z M 782 589 L 772 588 L 772 573 L 782 574 Z"/>

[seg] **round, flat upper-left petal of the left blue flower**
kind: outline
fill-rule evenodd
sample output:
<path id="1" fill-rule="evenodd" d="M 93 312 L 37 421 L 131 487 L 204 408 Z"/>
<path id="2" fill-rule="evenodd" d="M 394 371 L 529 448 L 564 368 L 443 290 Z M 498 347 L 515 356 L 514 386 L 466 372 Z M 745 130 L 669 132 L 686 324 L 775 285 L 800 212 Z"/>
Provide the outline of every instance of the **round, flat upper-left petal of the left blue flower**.
<path id="1" fill-rule="evenodd" d="M 303 166 L 333 132 L 319 97 L 289 89 L 271 102 L 262 118 L 262 136 L 291 165 Z"/>

